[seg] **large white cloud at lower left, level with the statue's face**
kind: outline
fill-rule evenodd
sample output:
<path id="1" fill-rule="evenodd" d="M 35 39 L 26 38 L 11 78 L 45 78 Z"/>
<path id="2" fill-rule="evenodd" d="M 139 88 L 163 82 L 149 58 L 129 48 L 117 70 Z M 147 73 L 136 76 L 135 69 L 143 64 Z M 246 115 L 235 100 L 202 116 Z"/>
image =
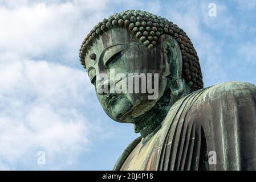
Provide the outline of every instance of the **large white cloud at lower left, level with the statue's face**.
<path id="1" fill-rule="evenodd" d="M 38 150 L 46 151 L 48 169 L 75 162 L 99 130 L 83 113 L 93 107 L 87 105 L 93 88 L 84 71 L 0 57 L 1 169 L 18 163 L 37 168 Z"/>

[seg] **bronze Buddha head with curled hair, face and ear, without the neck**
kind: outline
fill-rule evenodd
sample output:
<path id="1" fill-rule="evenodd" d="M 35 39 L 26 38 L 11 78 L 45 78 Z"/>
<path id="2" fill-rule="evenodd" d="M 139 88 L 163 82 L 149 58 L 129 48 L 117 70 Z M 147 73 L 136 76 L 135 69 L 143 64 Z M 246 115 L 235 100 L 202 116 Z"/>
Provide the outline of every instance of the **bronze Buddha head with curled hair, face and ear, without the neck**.
<path id="1" fill-rule="evenodd" d="M 99 22 L 83 41 L 80 61 L 105 113 L 118 122 L 133 123 L 203 88 L 186 33 L 146 11 L 123 11 Z"/>

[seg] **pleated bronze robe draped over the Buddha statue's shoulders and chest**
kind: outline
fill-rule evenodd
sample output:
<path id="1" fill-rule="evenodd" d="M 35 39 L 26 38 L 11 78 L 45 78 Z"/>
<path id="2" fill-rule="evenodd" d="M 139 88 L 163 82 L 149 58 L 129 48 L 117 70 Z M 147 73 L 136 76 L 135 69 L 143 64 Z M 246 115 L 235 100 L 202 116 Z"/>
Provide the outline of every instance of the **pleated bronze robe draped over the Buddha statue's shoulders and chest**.
<path id="1" fill-rule="evenodd" d="M 141 137 L 129 144 L 113 170 L 256 170 L 253 84 L 197 90 L 175 102 L 161 125 L 150 146 Z"/>

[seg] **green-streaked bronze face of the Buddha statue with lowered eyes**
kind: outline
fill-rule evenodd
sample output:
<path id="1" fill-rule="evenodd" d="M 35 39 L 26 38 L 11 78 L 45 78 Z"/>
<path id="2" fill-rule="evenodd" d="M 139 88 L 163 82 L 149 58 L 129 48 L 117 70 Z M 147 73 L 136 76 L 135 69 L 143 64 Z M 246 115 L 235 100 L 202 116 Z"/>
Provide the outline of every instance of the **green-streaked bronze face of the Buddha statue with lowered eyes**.
<path id="1" fill-rule="evenodd" d="M 97 98 L 105 113 L 115 121 L 133 123 L 134 118 L 150 110 L 165 91 L 169 70 L 166 69 L 161 46 L 147 49 L 126 28 L 112 28 L 101 35 L 87 53 L 85 60 Z M 135 76 L 134 73 L 145 76 L 139 85 L 129 82 L 129 78 Z M 117 78 L 120 75 L 124 77 Z M 121 83 L 123 85 L 120 87 Z M 119 89 L 126 85 L 126 92 L 124 89 L 124 92 L 117 93 L 113 84 L 119 84 Z"/>

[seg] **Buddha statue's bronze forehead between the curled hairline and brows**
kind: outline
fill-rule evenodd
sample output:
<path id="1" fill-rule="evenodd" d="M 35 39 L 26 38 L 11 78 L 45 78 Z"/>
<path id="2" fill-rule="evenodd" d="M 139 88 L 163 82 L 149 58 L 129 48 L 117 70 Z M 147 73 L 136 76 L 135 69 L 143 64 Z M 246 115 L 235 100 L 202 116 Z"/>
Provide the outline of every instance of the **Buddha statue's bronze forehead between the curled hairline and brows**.
<path id="1" fill-rule="evenodd" d="M 117 46 L 120 44 L 129 44 L 133 42 L 139 42 L 134 35 L 131 34 L 124 27 L 115 27 L 111 28 L 107 32 L 104 32 L 96 41 L 94 45 L 88 51 L 85 60 L 86 60 L 86 68 L 89 68 L 92 64 L 96 63 L 96 60 L 100 57 L 100 54 L 107 49 L 108 47 Z M 96 54 L 96 59 L 91 60 L 90 55 L 92 53 Z"/>

